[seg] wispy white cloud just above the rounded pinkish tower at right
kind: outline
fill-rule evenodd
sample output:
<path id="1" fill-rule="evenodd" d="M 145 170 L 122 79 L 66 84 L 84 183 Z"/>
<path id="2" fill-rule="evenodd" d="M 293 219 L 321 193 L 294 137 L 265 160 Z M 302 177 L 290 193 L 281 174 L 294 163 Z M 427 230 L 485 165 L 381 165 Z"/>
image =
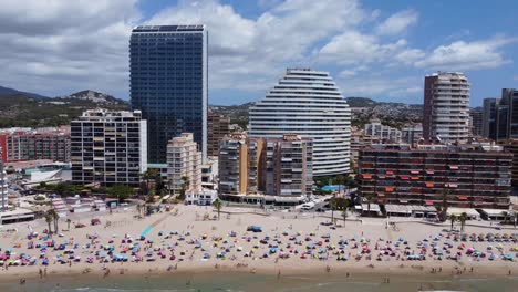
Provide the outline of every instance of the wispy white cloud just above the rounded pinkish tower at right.
<path id="1" fill-rule="evenodd" d="M 505 36 L 475 42 L 456 41 L 436 48 L 426 58 L 416 61 L 415 65 L 445 71 L 494 69 L 512 62 L 505 59 L 499 49 L 516 41 L 516 38 Z"/>

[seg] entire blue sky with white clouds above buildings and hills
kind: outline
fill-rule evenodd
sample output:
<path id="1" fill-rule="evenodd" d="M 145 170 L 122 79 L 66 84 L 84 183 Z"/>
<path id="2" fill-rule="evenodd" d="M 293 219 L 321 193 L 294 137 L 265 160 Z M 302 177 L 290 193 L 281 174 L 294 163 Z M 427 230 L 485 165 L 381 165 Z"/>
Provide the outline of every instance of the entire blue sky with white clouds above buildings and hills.
<path id="1" fill-rule="evenodd" d="M 511 0 L 3 0 L 0 85 L 128 98 L 134 25 L 205 23 L 210 104 L 256 101 L 287 66 L 310 66 L 345 96 L 404 103 L 422 103 L 424 75 L 462 71 L 477 106 L 518 87 L 516 11 Z"/>

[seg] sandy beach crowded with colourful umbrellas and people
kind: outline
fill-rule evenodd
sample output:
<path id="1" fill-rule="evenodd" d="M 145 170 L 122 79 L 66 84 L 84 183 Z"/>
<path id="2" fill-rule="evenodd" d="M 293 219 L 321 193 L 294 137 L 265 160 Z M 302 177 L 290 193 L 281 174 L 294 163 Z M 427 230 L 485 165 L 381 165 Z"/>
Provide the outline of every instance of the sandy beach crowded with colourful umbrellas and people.
<path id="1" fill-rule="evenodd" d="M 516 283 L 518 275 L 516 259 L 504 259 L 516 254 L 511 250 L 518 246 L 516 240 L 485 238 L 475 241 L 469 238 L 488 233 L 499 238 L 516 230 L 467 226 L 463 240 L 459 233 L 445 232 L 449 229 L 447 223 L 438 227 L 400 222 L 392 228 L 384 219 L 367 218 L 346 221 L 345 226 L 342 221 L 341 227 L 334 228 L 322 225 L 329 222 L 329 218 L 314 213 L 266 216 L 244 208 L 226 210 L 232 213 L 221 213 L 219 220 L 211 207 L 194 206 L 175 206 L 170 212 L 142 218 L 133 208 L 82 215 L 81 218 L 71 217 L 69 231 L 64 220 L 60 220 L 61 234 L 52 239 L 43 234 L 48 228 L 44 220 L 18 223 L 12 226 L 17 232 L 2 232 L 0 238 L 2 254 L 8 249 L 11 253 L 4 261 L 11 264 L 8 269 L 1 268 L 1 282 L 8 285 L 6 289 L 23 285 L 30 291 L 30 286 L 38 283 L 54 286 L 86 279 L 87 283 L 128 283 L 135 279 L 156 278 L 157 282 L 176 279 L 185 288 L 189 279 L 198 279 L 198 282 L 218 273 L 222 274 L 218 279 L 229 278 L 236 282 L 238 278 L 251 277 L 297 284 L 297 277 L 308 277 L 317 282 L 324 278 L 331 282 L 358 280 L 393 289 L 398 282 L 422 279 L 412 284 L 417 285 L 412 290 L 415 291 L 433 279 L 445 283 L 463 279 L 503 279 L 498 281 L 501 284 Z M 101 223 L 91 226 L 93 218 Z M 76 223 L 85 227 L 74 228 Z M 262 232 L 247 231 L 249 226 L 258 226 Z M 29 234 L 33 238 L 28 239 Z M 141 236 L 144 240 L 139 240 Z M 54 247 L 45 244 L 52 240 Z M 60 250 L 60 246 L 64 249 Z M 21 254 L 27 259 L 24 264 Z M 44 259 L 46 265 L 43 265 Z"/>

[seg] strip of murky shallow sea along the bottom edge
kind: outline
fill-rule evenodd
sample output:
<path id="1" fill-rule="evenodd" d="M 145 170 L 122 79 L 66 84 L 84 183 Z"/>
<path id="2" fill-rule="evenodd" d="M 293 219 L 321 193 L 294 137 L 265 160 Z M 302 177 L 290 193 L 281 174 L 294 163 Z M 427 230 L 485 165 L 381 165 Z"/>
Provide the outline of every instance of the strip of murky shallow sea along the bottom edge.
<path id="1" fill-rule="evenodd" d="M 426 278 L 381 275 L 265 275 L 231 272 L 160 274 L 132 277 L 55 277 L 25 280 L 24 283 L 0 282 L 0 291 L 55 292 L 165 292 L 165 291 L 498 291 L 517 292 L 518 277 L 503 278 Z"/>

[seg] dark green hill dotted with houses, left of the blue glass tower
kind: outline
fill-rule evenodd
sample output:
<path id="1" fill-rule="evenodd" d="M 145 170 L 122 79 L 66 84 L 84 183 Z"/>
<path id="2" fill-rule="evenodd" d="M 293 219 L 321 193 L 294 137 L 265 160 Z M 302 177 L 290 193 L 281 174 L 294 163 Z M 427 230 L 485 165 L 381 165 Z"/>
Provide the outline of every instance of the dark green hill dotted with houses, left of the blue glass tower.
<path id="1" fill-rule="evenodd" d="M 93 91 L 82 91 L 52 98 L 34 97 L 18 91 L 17 93 L 0 93 L 0 127 L 68 125 L 84 111 L 99 107 L 130 109 L 127 102 Z"/>

